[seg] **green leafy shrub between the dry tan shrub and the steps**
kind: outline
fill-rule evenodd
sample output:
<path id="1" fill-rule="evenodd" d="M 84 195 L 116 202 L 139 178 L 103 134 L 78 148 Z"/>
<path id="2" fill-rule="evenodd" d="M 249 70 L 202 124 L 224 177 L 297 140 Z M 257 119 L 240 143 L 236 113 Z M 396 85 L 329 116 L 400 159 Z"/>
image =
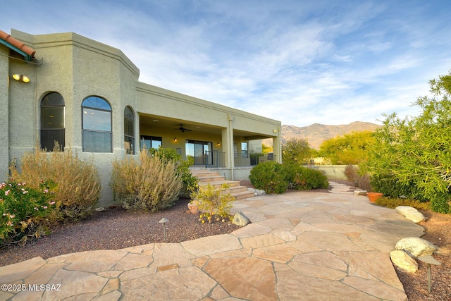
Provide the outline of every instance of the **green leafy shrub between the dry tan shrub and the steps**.
<path id="1" fill-rule="evenodd" d="M 158 156 L 164 163 L 172 161 L 175 164 L 178 175 L 182 179 L 183 188 L 180 190 L 180 195 L 184 197 L 190 197 L 190 192 L 197 188 L 199 180 L 192 176 L 190 166 L 194 164 L 194 157 L 188 156 L 186 160 L 183 160 L 180 154 L 173 148 L 149 149 L 150 154 Z"/>

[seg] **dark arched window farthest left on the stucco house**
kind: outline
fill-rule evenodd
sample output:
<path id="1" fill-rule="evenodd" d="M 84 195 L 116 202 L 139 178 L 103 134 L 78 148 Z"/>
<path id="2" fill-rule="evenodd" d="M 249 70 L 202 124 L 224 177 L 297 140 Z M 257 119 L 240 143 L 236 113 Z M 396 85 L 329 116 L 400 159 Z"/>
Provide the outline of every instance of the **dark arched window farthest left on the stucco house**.
<path id="1" fill-rule="evenodd" d="M 61 94 L 51 92 L 41 101 L 41 148 L 54 150 L 57 142 L 64 149 L 64 99 Z"/>

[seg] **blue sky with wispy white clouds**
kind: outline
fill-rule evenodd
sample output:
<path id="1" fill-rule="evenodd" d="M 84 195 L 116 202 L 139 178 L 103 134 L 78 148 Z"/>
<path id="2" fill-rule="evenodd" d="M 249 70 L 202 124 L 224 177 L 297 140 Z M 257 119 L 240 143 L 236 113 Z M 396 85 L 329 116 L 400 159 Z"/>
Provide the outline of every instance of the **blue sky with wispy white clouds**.
<path id="1" fill-rule="evenodd" d="M 140 81 L 285 125 L 415 116 L 451 70 L 451 1 L 8 1 L 0 30 L 76 32 Z M 39 58 L 39 53 L 37 53 Z"/>

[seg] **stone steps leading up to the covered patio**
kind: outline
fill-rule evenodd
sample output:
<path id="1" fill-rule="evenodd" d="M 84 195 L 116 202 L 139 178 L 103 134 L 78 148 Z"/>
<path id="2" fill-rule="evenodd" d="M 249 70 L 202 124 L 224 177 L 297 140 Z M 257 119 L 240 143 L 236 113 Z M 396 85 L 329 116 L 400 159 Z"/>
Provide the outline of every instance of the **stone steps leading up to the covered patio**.
<path id="1" fill-rule="evenodd" d="M 230 193 L 235 199 L 245 199 L 254 197 L 254 192 L 247 191 L 246 186 L 241 186 L 240 181 L 226 180 L 218 172 L 206 169 L 192 170 L 192 175 L 199 179 L 199 185 L 213 185 L 215 188 L 221 188 L 221 185 L 227 184 L 229 189 L 225 193 Z"/>

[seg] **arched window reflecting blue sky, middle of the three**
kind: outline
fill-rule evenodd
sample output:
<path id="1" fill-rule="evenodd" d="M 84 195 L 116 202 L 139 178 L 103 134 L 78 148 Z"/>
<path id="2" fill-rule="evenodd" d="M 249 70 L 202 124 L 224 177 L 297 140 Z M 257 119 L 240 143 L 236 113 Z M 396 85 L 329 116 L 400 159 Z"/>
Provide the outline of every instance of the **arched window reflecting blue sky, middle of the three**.
<path id="1" fill-rule="evenodd" d="M 83 152 L 113 152 L 111 106 L 105 99 L 87 97 L 82 102 Z"/>

